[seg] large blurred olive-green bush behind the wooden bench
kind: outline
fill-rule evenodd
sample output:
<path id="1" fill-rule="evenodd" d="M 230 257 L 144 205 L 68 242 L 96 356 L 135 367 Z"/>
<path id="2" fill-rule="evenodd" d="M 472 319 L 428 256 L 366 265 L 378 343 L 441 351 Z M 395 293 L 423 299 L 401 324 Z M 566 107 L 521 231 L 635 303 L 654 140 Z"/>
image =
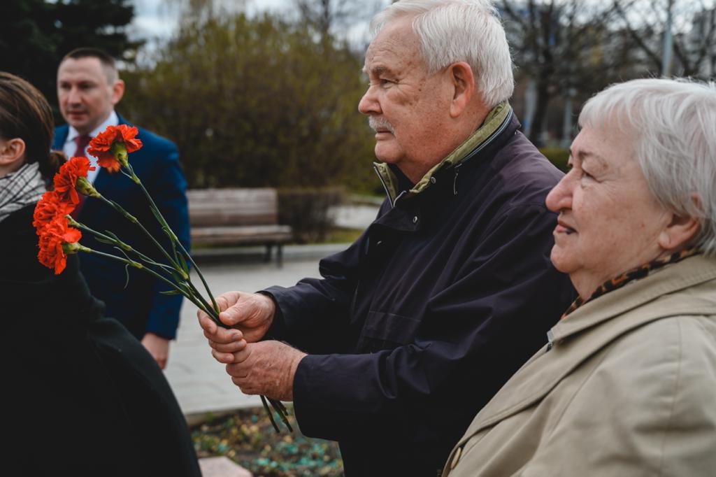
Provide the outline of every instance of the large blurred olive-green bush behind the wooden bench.
<path id="1" fill-rule="evenodd" d="M 183 22 L 122 74 L 120 112 L 175 140 L 189 185 L 373 188 L 362 58 L 269 14 Z"/>

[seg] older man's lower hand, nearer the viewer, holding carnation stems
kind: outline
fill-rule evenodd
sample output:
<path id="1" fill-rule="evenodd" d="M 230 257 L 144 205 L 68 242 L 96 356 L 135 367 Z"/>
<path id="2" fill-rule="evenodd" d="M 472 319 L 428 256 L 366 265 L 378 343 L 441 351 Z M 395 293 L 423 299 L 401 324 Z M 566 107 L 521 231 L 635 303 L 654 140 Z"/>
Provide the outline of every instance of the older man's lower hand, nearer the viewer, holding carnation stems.
<path id="1" fill-rule="evenodd" d="M 245 394 L 294 400 L 294 376 L 306 353 L 278 341 L 249 343 L 226 365 L 231 380 Z"/>

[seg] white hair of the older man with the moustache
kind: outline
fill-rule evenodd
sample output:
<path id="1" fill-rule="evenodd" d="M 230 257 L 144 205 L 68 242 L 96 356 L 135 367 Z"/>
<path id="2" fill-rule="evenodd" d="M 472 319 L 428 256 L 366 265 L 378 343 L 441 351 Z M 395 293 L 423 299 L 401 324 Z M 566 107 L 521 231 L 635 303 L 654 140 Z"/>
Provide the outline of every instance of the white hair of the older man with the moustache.
<path id="1" fill-rule="evenodd" d="M 467 62 L 485 105 L 495 107 L 512 96 L 510 47 L 491 0 L 400 0 L 373 17 L 371 33 L 405 16 L 413 17 L 428 72 Z"/>

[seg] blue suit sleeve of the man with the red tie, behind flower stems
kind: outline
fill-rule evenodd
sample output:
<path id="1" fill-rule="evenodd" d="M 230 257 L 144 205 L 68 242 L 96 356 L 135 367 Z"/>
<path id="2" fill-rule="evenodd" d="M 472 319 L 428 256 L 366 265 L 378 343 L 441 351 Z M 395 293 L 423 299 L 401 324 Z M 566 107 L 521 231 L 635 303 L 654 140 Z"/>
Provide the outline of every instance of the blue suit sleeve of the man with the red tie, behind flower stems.
<path id="1" fill-rule="evenodd" d="M 189 215 L 186 200 L 186 180 L 179 164 L 179 153 L 173 143 L 166 142 L 158 153 L 157 166 L 154 169 L 147 191 L 151 194 L 160 212 L 174 231 L 185 249 L 189 251 Z M 158 231 L 157 237 L 164 233 Z M 168 240 L 165 241 L 168 246 Z M 183 297 L 181 295 L 164 295 L 166 290 L 163 281 L 154 279 L 154 294 L 147 317 L 145 331 L 158 334 L 167 339 L 176 337 L 179 326 L 179 312 Z"/>

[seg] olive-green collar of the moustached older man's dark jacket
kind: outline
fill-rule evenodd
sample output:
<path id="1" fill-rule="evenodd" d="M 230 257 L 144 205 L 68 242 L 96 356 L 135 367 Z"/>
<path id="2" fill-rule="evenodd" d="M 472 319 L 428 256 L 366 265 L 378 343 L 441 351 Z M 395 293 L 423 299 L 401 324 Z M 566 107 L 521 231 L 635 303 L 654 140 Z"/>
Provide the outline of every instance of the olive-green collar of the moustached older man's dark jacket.
<path id="1" fill-rule="evenodd" d="M 425 191 L 432 184 L 432 177 L 438 170 L 443 168 L 459 167 L 465 161 L 478 155 L 481 150 L 486 148 L 497 138 L 500 133 L 510 124 L 513 112 L 508 102 L 501 102 L 491 110 L 483 125 L 478 127 L 469 138 L 460 144 L 452 153 L 448 154 L 439 163 L 434 165 L 410 190 L 402 191 L 399 186 L 397 175 L 391 170 L 390 165 L 386 163 L 374 163 L 375 172 L 380 182 L 385 188 L 385 192 L 390 198 L 390 203 L 395 206 L 395 202 L 402 196 L 415 196 Z"/>

